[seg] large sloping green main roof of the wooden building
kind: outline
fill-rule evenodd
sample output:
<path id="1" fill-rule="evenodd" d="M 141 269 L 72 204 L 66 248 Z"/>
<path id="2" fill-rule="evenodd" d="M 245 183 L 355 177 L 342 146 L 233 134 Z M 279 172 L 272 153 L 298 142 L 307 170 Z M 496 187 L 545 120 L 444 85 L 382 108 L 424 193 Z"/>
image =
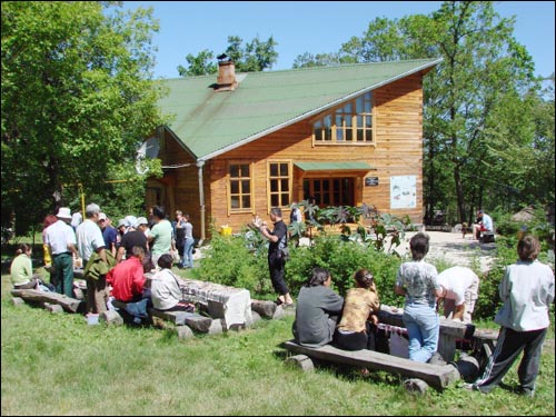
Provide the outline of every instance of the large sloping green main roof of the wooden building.
<path id="1" fill-rule="evenodd" d="M 165 80 L 167 128 L 197 159 L 210 159 L 353 97 L 427 70 L 441 59 L 237 73 L 234 91 L 217 75 Z"/>

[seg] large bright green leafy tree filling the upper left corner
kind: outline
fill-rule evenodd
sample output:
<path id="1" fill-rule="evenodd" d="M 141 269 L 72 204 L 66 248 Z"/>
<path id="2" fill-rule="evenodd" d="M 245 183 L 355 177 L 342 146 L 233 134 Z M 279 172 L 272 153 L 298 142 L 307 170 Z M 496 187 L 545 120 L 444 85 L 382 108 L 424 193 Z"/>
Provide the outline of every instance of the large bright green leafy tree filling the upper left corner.
<path id="1" fill-rule="evenodd" d="M 151 9 L 100 1 L 4 1 L 1 13 L 2 214 L 23 232 L 66 202 L 68 186 L 108 192 L 103 181 L 132 167 L 162 123 L 158 23 Z"/>

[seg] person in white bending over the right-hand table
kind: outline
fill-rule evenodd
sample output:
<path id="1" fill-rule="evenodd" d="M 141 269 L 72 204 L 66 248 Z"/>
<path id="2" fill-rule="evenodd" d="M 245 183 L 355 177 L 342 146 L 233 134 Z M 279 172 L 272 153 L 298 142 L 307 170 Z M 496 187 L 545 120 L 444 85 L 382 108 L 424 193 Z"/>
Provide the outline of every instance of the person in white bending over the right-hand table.
<path id="1" fill-rule="evenodd" d="M 443 287 L 444 316 L 453 320 L 471 322 L 478 298 L 479 277 L 469 268 L 451 267 L 438 275 Z"/>

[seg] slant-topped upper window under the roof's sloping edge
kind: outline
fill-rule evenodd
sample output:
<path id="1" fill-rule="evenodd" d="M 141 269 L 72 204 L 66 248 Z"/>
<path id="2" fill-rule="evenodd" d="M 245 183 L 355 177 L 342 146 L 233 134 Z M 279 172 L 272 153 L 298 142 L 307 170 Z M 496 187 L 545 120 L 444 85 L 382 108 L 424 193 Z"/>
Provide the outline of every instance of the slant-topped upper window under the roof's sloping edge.
<path id="1" fill-rule="evenodd" d="M 312 123 L 315 143 L 375 145 L 373 110 L 370 91 L 346 102 Z"/>

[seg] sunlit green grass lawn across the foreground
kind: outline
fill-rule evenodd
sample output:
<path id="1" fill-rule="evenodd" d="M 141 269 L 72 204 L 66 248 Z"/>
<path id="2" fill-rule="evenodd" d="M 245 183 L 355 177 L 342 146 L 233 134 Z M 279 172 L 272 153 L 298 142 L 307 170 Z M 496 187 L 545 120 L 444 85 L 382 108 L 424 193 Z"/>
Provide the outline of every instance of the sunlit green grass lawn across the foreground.
<path id="1" fill-rule="evenodd" d="M 285 365 L 292 317 L 179 340 L 171 330 L 88 326 L 83 316 L 11 305 L 2 275 L 2 415 L 550 415 L 554 325 L 536 397 L 460 383 L 423 398 L 397 376 Z M 517 365 L 506 383 L 517 383 Z"/>

